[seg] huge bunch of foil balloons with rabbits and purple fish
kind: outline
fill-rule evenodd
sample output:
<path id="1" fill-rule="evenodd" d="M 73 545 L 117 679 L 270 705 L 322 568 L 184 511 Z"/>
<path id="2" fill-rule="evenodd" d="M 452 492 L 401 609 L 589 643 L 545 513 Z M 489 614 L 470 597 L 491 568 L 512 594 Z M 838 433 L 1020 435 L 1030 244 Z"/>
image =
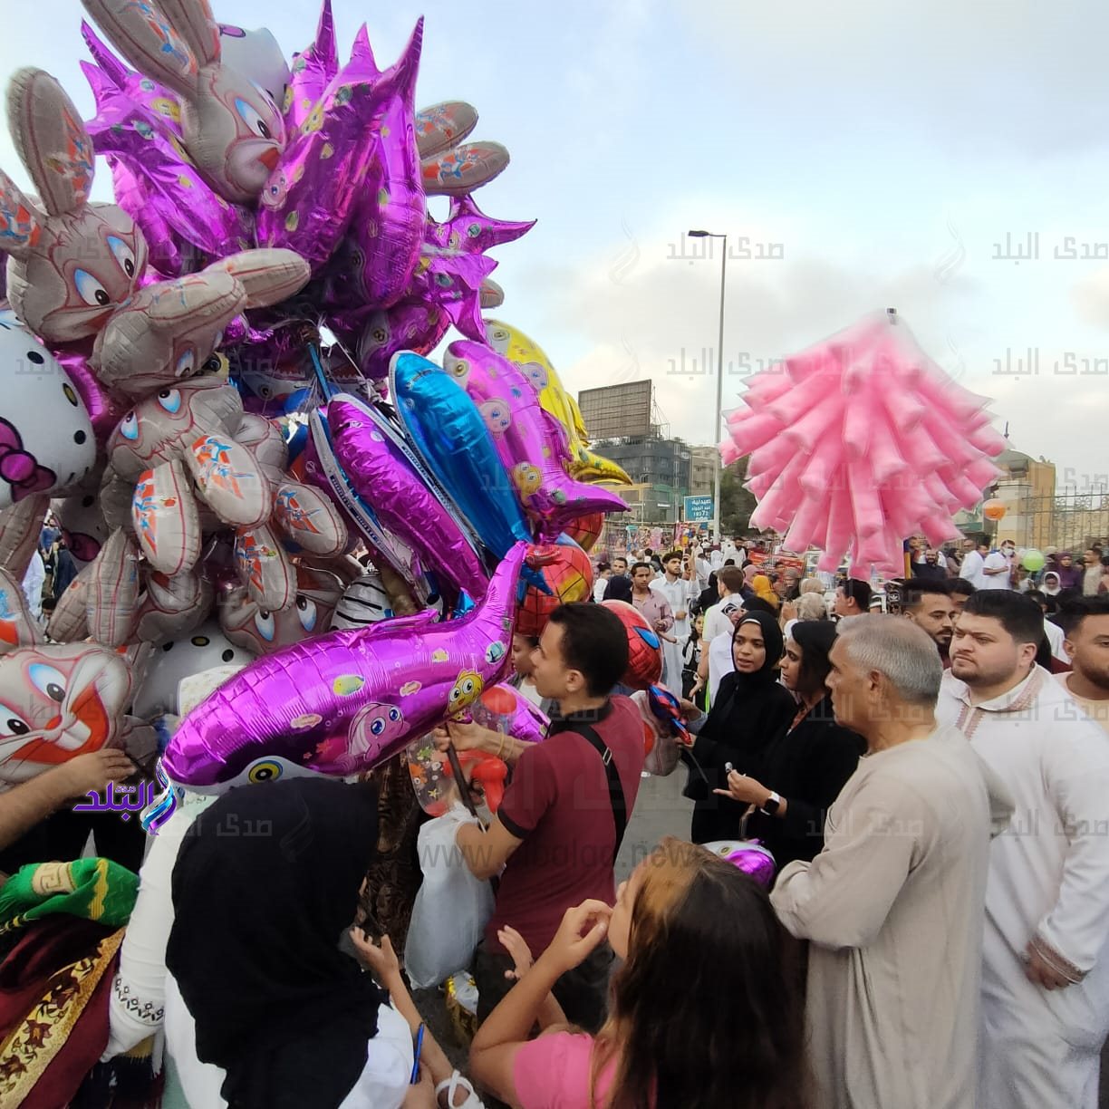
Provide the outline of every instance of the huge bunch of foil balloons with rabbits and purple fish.
<path id="1" fill-rule="evenodd" d="M 34 189 L 0 172 L 0 787 L 220 667 L 163 737 L 175 788 L 369 770 L 497 688 L 521 602 L 538 634 L 588 596 L 571 537 L 625 507 L 547 356 L 482 317 L 532 226 L 474 201 L 508 151 L 416 110 L 423 20 L 381 69 L 365 27 L 340 62 L 330 0 L 291 63 L 207 0 L 82 2 L 94 118 L 41 70 L 8 94 Z M 53 644 L 12 592 L 51 506 L 80 569 Z"/>

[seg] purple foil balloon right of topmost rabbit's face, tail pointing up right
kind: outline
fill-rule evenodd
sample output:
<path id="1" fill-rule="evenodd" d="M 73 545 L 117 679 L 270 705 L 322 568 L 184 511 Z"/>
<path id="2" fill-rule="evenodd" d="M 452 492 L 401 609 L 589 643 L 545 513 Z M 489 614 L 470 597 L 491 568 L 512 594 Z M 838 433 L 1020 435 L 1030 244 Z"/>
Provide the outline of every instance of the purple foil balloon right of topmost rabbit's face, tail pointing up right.
<path id="1" fill-rule="evenodd" d="M 353 59 L 281 155 L 258 197 L 260 246 L 286 246 L 316 273 L 346 234 L 378 150 L 381 115 L 415 84 L 424 21 L 385 73 Z M 373 72 L 370 72 L 373 70 Z"/>

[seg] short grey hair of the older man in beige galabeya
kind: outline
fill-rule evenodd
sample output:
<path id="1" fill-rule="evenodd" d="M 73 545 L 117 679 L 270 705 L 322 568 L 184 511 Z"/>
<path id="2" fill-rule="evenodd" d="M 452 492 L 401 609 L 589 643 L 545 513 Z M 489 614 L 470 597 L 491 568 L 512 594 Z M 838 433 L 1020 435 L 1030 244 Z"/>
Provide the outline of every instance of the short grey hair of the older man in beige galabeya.
<path id="1" fill-rule="evenodd" d="M 856 617 L 840 632 L 851 662 L 867 672 L 876 670 L 908 704 L 936 703 L 944 664 L 935 641 L 920 627 L 902 617 Z"/>

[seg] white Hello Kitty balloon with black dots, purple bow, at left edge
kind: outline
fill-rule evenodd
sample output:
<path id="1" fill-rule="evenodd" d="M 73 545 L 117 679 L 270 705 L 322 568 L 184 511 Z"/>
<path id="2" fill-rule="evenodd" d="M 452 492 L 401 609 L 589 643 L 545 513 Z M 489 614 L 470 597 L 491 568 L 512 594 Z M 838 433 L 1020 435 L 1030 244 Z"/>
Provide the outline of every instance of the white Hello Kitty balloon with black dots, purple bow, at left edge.
<path id="1" fill-rule="evenodd" d="M 0 508 L 75 485 L 95 461 L 69 375 L 13 313 L 0 312 Z"/>

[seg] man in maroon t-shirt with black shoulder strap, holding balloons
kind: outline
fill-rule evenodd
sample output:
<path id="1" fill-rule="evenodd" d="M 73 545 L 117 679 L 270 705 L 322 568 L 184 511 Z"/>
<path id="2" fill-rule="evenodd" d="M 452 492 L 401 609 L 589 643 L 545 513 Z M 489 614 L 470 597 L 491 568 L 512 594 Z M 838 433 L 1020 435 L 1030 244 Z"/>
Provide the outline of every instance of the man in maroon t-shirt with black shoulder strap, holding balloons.
<path id="1" fill-rule="evenodd" d="M 464 825 L 457 838 L 478 877 L 505 867 L 474 967 L 479 1020 L 512 986 L 505 971 L 515 963 L 498 943 L 498 929 L 511 925 L 538 957 L 570 906 L 590 897 L 611 905 L 615 898 L 617 818 L 609 774 L 582 730 L 592 729 L 611 752 L 628 817 L 643 770 L 639 712 L 627 698 L 609 696 L 628 667 L 627 632 L 614 613 L 599 604 L 561 606 L 551 613 L 532 661 L 536 689 L 558 702 L 559 714 L 547 740 L 520 755 L 488 832 Z M 589 1031 L 604 1021 L 611 962 L 612 952 L 603 945 L 554 986 L 567 1018 Z"/>

